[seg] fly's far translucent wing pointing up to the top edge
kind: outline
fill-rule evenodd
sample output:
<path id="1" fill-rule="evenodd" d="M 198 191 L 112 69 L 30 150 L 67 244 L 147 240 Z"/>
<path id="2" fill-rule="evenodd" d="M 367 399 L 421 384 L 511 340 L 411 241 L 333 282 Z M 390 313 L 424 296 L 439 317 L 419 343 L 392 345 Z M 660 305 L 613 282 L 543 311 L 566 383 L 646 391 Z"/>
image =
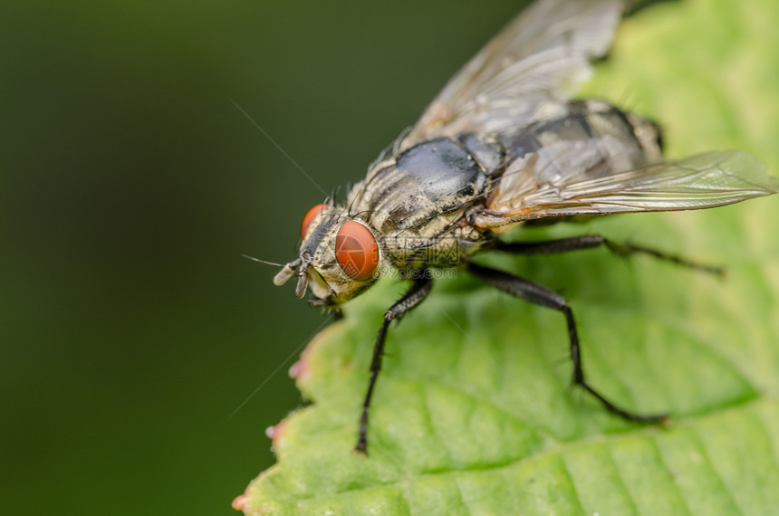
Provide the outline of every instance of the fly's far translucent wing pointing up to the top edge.
<path id="1" fill-rule="evenodd" d="M 522 129 L 591 75 L 609 48 L 618 0 L 539 0 L 447 82 L 400 148 L 466 130 Z"/>

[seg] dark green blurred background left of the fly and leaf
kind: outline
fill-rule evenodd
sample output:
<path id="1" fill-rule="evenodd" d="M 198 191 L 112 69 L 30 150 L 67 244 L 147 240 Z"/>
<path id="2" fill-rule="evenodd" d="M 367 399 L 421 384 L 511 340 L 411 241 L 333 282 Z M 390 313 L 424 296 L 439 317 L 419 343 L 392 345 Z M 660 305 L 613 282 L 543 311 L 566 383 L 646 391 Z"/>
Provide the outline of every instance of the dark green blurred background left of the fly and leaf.
<path id="1" fill-rule="evenodd" d="M 234 513 L 324 318 L 241 257 L 322 193 L 230 99 L 330 191 L 521 5 L 0 6 L 0 513 Z"/>

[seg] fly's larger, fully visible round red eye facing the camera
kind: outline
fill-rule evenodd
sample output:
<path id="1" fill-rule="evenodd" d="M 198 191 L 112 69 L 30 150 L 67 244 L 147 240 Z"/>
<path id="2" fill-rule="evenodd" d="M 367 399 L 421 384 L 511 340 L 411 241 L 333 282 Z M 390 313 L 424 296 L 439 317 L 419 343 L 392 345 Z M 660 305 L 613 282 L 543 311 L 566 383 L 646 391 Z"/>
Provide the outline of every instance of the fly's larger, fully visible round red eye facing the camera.
<path id="1" fill-rule="evenodd" d="M 350 278 L 367 280 L 379 266 L 379 244 L 367 227 L 351 220 L 335 236 L 335 259 Z"/>

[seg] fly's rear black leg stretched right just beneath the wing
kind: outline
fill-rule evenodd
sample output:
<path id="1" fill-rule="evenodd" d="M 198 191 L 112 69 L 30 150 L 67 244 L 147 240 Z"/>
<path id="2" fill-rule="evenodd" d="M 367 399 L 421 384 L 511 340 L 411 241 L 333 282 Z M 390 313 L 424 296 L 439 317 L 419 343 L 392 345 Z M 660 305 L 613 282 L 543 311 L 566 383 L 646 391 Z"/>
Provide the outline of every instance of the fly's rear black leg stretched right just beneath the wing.
<path id="1" fill-rule="evenodd" d="M 495 244 L 494 249 L 496 251 L 517 254 L 552 254 L 567 253 L 568 251 L 576 251 L 577 249 L 591 249 L 592 247 L 599 247 L 601 245 L 605 245 L 612 253 L 623 257 L 633 253 L 649 254 L 660 260 L 676 263 L 677 265 L 688 267 L 689 269 L 715 274 L 716 276 L 725 275 L 725 269 L 722 267 L 692 262 L 675 254 L 663 253 L 642 245 L 630 243 L 620 244 L 609 240 L 600 234 L 586 234 L 584 236 L 561 238 L 559 240 L 546 240 L 543 242 L 498 242 Z"/>

